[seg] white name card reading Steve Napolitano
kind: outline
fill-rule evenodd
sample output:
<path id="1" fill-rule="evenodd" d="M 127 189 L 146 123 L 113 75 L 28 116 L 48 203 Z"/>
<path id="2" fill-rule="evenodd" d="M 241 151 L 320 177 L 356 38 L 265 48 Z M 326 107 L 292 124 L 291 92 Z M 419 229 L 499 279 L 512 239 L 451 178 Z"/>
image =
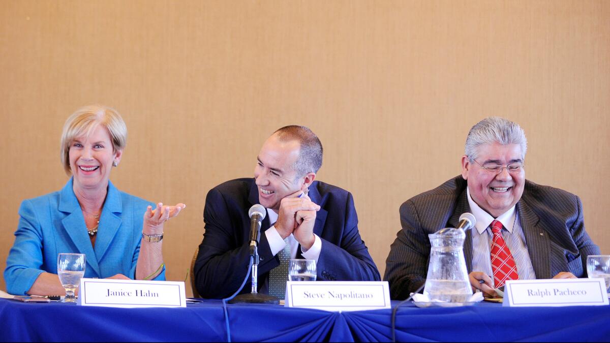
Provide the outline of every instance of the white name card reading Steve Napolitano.
<path id="1" fill-rule="evenodd" d="M 325 311 L 390 308 L 387 281 L 288 281 L 286 307 Z"/>

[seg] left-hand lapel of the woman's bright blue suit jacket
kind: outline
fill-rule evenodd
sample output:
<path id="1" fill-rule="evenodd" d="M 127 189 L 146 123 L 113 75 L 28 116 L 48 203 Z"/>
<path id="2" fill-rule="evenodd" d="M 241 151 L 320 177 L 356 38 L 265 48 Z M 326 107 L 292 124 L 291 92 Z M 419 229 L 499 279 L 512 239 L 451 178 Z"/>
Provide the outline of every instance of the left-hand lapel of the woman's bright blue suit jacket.
<path id="1" fill-rule="evenodd" d="M 62 226 L 68 237 L 72 240 L 78 251 L 59 251 L 60 253 L 73 253 L 79 252 L 85 254 L 85 260 L 89 267 L 95 270 L 95 273 L 99 275 L 99 265 L 96 259 L 95 253 L 93 253 L 93 247 L 91 246 L 91 240 L 87 234 L 85 227 L 85 218 L 82 216 L 81 206 L 74 195 L 73 179 L 68 181 L 65 187 L 63 187 L 60 193 L 59 199 L 59 211 L 67 213 L 66 217 L 62 219 Z"/>

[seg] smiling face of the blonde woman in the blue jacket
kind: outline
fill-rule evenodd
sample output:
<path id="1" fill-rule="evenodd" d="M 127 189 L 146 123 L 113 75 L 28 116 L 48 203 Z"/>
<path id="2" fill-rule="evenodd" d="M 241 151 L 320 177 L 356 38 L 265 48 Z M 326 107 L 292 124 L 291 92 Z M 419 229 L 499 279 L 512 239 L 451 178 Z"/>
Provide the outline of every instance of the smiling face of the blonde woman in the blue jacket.
<path id="1" fill-rule="evenodd" d="M 99 189 L 108 186 L 112 162 L 121 160 L 123 151 L 114 151 L 110 134 L 104 126 L 96 125 L 88 136 L 76 137 L 70 144 L 68 156 L 74 175 L 74 187 Z"/>

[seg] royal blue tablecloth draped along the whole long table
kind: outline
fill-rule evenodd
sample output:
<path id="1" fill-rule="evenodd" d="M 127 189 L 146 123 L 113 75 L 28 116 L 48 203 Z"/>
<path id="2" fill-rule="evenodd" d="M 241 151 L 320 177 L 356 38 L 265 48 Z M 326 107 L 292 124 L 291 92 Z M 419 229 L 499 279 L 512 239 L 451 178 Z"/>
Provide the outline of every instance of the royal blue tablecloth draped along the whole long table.
<path id="1" fill-rule="evenodd" d="M 396 302 L 393 303 L 396 305 Z M 390 309 L 326 312 L 228 305 L 232 341 L 387 342 Z M 610 306 L 462 308 L 401 306 L 397 340 L 608 341 Z M 226 341 L 220 301 L 187 308 L 102 308 L 0 300 L 0 341 Z"/>

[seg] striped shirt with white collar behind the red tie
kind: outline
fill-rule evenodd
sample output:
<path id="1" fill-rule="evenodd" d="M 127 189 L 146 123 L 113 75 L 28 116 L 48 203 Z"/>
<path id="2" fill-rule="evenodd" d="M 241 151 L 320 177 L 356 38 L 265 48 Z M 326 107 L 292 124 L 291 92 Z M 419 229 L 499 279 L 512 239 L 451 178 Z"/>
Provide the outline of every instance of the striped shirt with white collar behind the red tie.
<path id="1" fill-rule="evenodd" d="M 472 211 L 476 218 L 476 229 L 470 230 L 472 237 L 472 271 L 486 273 L 493 283 L 491 262 L 493 233 L 489 226 L 493 220 L 498 220 L 504 226 L 502 237 L 509 250 L 511 250 L 515 264 L 517 264 L 519 280 L 536 279 L 536 273 L 534 273 L 534 267 L 532 267 L 532 262 L 529 258 L 528 246 L 525 242 L 525 234 L 523 234 L 523 229 L 519 222 L 519 213 L 517 213 L 515 206 L 512 206 L 511 209 L 504 212 L 498 218 L 493 218 L 472 200 L 470 190 L 467 189 L 466 192 L 470 211 Z"/>

